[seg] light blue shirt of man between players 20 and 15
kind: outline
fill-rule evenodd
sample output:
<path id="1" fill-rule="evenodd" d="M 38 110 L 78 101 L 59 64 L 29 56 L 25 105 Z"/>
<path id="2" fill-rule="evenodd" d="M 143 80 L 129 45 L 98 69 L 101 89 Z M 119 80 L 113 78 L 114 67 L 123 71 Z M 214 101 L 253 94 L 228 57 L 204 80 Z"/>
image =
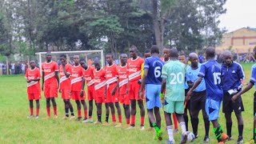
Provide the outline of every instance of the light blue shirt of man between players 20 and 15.
<path id="1" fill-rule="evenodd" d="M 198 74 L 200 71 L 200 66 L 201 64 L 198 64 L 198 69 L 192 69 L 191 66 L 186 66 L 186 83 L 191 81 L 191 82 L 196 82 L 198 80 Z M 206 82 L 205 79 L 202 78 L 202 82 L 198 85 L 197 88 L 195 88 L 193 91 L 195 92 L 200 92 L 206 90 Z"/>

